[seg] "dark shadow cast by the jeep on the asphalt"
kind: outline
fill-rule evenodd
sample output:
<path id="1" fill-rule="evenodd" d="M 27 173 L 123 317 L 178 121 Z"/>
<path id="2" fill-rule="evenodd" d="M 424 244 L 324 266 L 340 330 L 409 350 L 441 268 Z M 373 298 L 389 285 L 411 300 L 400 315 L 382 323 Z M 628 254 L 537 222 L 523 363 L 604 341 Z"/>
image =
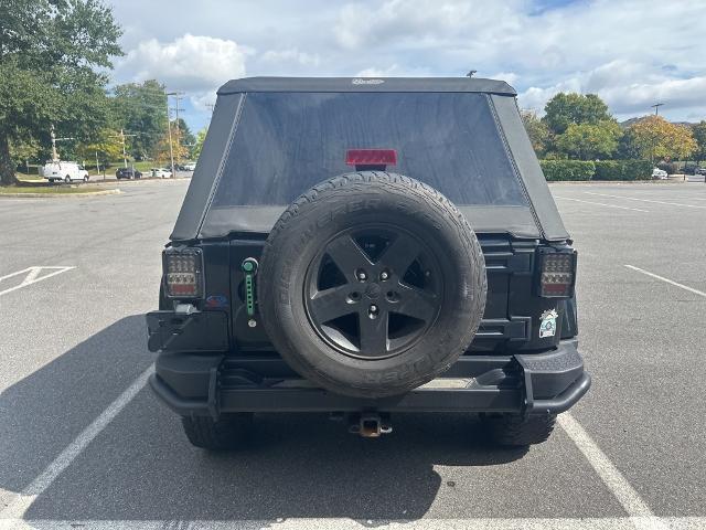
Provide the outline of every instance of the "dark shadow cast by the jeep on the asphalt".
<path id="1" fill-rule="evenodd" d="M 127 317 L 2 393 L 12 428 L 0 445 L 0 488 L 22 490 L 147 368 L 143 332 L 141 316 Z M 435 466 L 502 466 L 525 454 L 490 446 L 473 416 L 393 420 L 392 434 L 365 439 L 322 414 L 263 414 L 246 447 L 208 453 L 190 446 L 178 417 L 145 389 L 25 518 L 413 520 L 457 487 Z"/>

